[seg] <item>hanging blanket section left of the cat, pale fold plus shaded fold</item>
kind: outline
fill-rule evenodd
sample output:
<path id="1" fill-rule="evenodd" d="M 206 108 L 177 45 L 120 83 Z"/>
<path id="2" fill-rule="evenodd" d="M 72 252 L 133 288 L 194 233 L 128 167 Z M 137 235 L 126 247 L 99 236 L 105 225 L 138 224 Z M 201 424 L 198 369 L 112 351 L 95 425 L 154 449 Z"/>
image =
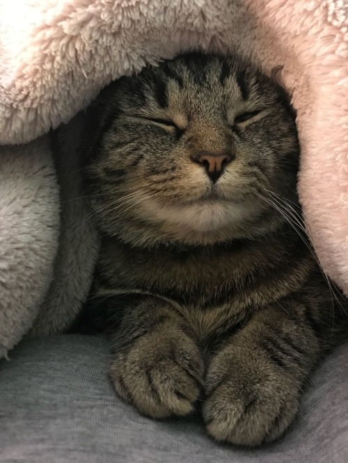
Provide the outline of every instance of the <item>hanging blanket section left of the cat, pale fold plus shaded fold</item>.
<path id="1" fill-rule="evenodd" d="M 58 156 L 47 136 L 0 146 L 0 358 L 29 330 L 65 330 L 90 289 L 99 240 L 75 150 L 80 118 L 72 122 Z"/>

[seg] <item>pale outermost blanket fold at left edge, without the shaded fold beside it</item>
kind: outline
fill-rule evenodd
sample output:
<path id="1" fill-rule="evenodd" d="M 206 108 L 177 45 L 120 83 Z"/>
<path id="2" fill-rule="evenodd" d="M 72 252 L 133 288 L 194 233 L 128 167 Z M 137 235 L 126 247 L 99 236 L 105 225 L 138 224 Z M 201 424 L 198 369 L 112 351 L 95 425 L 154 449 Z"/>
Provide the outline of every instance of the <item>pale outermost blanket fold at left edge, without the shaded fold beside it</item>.
<path id="1" fill-rule="evenodd" d="M 59 195 L 49 142 L 0 147 L 0 357 L 28 332 L 51 281 Z"/>

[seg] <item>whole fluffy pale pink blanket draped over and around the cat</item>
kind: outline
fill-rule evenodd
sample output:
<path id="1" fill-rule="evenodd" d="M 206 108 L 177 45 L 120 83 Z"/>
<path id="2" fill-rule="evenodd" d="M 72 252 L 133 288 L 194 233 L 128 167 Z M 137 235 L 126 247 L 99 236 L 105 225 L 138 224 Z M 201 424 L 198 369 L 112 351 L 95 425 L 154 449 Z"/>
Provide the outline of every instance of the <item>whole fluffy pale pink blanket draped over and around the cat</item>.
<path id="1" fill-rule="evenodd" d="M 348 293 L 347 0 L 0 0 L 0 357 L 32 326 L 67 327 L 97 256 L 79 120 L 55 160 L 44 134 L 112 79 L 197 47 L 237 51 L 292 95 L 306 225 Z"/>

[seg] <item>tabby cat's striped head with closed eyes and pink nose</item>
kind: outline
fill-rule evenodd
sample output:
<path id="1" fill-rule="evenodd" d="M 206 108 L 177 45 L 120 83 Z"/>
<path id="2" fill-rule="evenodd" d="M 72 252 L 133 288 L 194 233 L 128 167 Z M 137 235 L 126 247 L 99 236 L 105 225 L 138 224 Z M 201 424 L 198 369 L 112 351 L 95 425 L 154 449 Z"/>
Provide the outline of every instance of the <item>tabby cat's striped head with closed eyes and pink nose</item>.
<path id="1" fill-rule="evenodd" d="M 137 244 L 206 244 L 278 224 L 299 155 L 283 92 L 235 59 L 189 54 L 107 88 L 91 109 L 97 224 Z"/>

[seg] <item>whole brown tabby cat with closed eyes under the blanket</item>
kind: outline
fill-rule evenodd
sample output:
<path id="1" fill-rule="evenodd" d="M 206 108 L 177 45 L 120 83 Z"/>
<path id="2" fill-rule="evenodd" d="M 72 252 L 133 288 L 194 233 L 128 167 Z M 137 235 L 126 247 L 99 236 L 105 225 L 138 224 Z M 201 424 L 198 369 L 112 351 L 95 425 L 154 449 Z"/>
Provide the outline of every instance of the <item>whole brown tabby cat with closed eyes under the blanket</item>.
<path id="1" fill-rule="evenodd" d="M 347 309 L 303 232 L 285 92 L 196 52 L 112 83 L 88 121 L 89 310 L 117 393 L 155 418 L 199 407 L 221 441 L 278 438 Z"/>

